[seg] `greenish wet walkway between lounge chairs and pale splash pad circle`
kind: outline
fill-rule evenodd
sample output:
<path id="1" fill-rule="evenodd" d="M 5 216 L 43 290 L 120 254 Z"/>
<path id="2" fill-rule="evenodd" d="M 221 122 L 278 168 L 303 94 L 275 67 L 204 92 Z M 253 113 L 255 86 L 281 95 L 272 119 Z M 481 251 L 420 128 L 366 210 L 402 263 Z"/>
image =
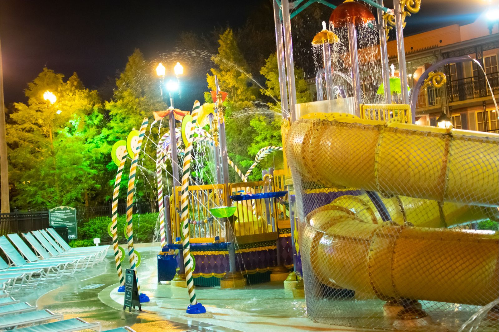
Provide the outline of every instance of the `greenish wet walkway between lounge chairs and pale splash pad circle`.
<path id="1" fill-rule="evenodd" d="M 142 250 L 141 250 L 142 252 Z M 156 250 L 144 251 L 143 262 L 151 262 L 156 257 Z M 142 263 L 142 264 L 144 264 Z M 152 267 L 144 264 L 148 270 Z M 154 267 L 155 268 L 155 267 Z M 140 268 L 139 268 L 140 269 Z M 114 301 L 99 300 L 99 293 L 118 280 L 112 252 L 109 251 L 103 262 L 82 273 L 75 274 L 74 278 L 62 278 L 57 281 L 47 281 L 35 289 L 12 294 L 22 302 L 36 304 L 39 309 L 49 309 L 54 313 L 61 313 L 64 319 L 79 317 L 87 322 L 100 322 L 102 331 L 122 326 L 129 326 L 137 332 L 165 332 L 165 331 L 234 331 L 216 327 L 212 324 L 186 320 L 174 322 L 165 316 L 147 312 L 147 307 L 142 307 L 143 312 L 124 311 L 123 307 Z M 104 296 L 105 300 L 106 296 Z M 107 295 L 109 299 L 109 295 Z"/>

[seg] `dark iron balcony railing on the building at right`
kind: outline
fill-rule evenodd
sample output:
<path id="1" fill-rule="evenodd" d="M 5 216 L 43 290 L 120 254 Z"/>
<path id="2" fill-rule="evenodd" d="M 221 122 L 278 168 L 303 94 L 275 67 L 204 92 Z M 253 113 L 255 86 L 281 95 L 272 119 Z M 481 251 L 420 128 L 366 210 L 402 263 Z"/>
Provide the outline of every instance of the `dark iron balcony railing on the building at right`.
<path id="1" fill-rule="evenodd" d="M 498 73 L 488 74 L 487 78 L 494 94 L 498 93 Z M 484 75 L 450 80 L 446 86 L 450 103 L 491 95 L 491 90 Z"/>

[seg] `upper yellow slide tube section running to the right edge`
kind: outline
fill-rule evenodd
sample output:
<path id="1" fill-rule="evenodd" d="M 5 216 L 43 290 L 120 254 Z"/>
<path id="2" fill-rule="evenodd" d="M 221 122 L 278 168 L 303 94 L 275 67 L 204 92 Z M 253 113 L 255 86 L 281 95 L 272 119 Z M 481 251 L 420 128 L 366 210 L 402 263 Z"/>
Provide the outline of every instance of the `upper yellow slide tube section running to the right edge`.
<path id="1" fill-rule="evenodd" d="M 300 119 L 288 134 L 286 153 L 301 181 L 499 205 L 497 134 L 314 115 L 319 119 Z"/>

